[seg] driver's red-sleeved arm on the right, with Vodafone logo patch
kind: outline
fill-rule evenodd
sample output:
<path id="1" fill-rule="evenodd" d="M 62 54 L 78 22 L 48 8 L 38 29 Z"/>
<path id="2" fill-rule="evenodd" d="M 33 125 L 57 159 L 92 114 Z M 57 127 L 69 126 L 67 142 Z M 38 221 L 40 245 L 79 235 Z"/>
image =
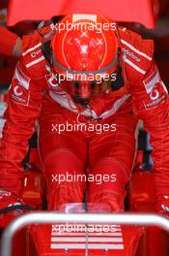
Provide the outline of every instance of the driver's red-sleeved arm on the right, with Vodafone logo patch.
<path id="1" fill-rule="evenodd" d="M 135 84 L 132 98 L 135 115 L 144 121 L 144 128 L 150 133 L 159 207 L 164 201 L 169 204 L 169 97 L 154 61 Z"/>

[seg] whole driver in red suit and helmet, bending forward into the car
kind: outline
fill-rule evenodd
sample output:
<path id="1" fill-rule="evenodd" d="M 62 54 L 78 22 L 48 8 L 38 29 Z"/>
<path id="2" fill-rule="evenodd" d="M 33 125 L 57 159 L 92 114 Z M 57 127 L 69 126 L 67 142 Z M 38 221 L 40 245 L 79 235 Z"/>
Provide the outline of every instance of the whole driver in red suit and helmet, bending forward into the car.
<path id="1" fill-rule="evenodd" d="M 103 16 L 73 15 L 25 36 L 22 48 L 0 141 L 1 212 L 21 204 L 21 162 L 36 119 L 48 209 L 81 203 L 87 186 L 88 203 L 123 210 L 142 119 L 154 149 L 156 210 L 167 213 L 169 99 L 153 41 Z"/>

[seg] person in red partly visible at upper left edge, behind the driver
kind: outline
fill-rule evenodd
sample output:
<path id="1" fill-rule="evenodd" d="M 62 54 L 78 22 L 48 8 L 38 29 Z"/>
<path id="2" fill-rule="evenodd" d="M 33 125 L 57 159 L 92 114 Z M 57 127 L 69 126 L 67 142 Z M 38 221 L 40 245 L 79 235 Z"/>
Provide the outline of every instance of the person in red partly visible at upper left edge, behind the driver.
<path id="1" fill-rule="evenodd" d="M 17 57 L 21 53 L 22 36 L 37 28 L 37 23 L 32 21 L 19 22 L 8 27 L 9 2 L 0 1 L 0 86 L 8 86 L 13 78 Z"/>

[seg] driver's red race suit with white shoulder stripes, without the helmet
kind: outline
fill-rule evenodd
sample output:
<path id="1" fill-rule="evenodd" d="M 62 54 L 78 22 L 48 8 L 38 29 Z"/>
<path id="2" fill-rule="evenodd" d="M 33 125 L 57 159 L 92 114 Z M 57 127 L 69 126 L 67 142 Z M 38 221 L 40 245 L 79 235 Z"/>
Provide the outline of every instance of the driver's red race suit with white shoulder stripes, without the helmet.
<path id="1" fill-rule="evenodd" d="M 85 109 L 52 74 L 38 32 L 23 38 L 4 113 L 0 186 L 20 193 L 22 159 L 38 119 L 48 209 L 82 202 L 87 188 L 89 203 L 123 210 L 142 119 L 154 149 L 156 197 L 169 195 L 169 99 L 153 59 L 154 43 L 125 28 L 120 38 L 125 86 L 95 96 Z"/>

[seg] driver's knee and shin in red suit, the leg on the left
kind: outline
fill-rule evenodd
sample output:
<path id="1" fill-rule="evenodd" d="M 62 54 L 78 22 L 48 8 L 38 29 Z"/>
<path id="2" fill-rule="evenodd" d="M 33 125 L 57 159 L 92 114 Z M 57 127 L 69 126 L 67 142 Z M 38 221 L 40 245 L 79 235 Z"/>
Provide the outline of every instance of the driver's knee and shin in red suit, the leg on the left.
<path id="1" fill-rule="evenodd" d="M 60 209 L 62 205 L 82 203 L 85 191 L 83 164 L 70 149 L 56 149 L 46 155 L 44 175 L 49 210 Z"/>

